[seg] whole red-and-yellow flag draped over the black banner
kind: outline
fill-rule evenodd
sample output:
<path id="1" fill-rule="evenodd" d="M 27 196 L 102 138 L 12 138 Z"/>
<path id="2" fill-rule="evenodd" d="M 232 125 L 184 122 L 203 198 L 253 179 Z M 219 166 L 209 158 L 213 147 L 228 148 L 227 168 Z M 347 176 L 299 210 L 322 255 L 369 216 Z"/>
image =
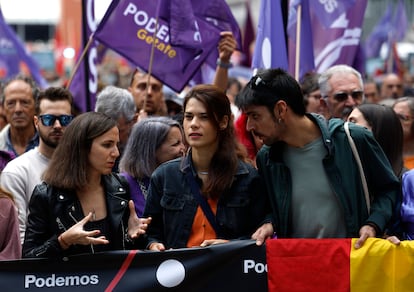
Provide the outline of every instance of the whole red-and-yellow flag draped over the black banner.
<path id="1" fill-rule="evenodd" d="M 414 291 L 414 241 L 266 241 L 269 291 Z"/>

